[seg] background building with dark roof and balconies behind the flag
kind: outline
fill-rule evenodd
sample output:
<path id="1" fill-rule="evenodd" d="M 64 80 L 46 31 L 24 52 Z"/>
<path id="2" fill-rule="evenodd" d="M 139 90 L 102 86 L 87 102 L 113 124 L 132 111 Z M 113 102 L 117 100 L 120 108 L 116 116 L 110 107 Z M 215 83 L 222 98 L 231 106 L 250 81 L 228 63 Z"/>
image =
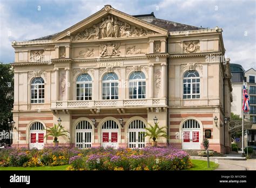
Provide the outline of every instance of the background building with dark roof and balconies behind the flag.
<path id="1" fill-rule="evenodd" d="M 252 122 L 251 129 L 247 130 L 247 138 L 245 138 L 245 146 L 256 145 L 256 71 L 253 68 L 245 71 L 239 64 L 230 64 L 232 73 L 232 95 L 231 112 L 242 117 L 242 83 L 245 81 L 246 90 L 250 99 L 250 111 L 244 113 L 244 120 Z"/>

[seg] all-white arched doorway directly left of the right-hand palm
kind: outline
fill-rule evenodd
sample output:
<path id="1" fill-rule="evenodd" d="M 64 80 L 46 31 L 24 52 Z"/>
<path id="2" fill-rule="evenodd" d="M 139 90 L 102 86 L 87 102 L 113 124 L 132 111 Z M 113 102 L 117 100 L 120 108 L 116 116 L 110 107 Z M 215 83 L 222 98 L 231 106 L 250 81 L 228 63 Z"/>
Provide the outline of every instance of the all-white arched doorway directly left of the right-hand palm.
<path id="1" fill-rule="evenodd" d="M 128 128 L 128 147 L 144 148 L 145 147 L 145 123 L 141 120 L 133 120 Z"/>

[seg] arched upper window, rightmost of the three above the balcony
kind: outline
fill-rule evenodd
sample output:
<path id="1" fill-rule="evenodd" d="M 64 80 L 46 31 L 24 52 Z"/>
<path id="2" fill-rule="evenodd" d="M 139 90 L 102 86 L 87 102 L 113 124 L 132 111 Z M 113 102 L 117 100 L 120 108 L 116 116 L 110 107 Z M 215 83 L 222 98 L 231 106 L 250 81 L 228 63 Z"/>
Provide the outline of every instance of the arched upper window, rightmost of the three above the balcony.
<path id="1" fill-rule="evenodd" d="M 143 72 L 133 72 L 129 77 L 129 98 L 146 98 L 146 78 Z"/>

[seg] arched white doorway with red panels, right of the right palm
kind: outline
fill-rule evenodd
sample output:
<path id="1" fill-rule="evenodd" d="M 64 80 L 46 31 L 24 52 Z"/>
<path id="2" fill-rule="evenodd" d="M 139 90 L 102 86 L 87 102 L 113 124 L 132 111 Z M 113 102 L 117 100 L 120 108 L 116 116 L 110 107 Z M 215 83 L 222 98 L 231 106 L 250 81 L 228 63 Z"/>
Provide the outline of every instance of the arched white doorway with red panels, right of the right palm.
<path id="1" fill-rule="evenodd" d="M 182 124 L 182 149 L 200 149 L 200 124 L 197 120 L 189 119 Z"/>

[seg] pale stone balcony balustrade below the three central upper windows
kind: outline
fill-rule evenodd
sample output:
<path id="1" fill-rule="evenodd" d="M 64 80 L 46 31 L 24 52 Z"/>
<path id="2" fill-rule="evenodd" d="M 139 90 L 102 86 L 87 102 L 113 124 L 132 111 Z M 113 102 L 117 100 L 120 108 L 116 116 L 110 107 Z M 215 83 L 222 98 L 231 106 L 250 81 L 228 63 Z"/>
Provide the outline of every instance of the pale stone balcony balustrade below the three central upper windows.
<path id="1" fill-rule="evenodd" d="M 118 99 L 88 101 L 52 101 L 51 109 L 100 108 L 100 107 L 155 107 L 167 106 L 166 98 Z"/>

